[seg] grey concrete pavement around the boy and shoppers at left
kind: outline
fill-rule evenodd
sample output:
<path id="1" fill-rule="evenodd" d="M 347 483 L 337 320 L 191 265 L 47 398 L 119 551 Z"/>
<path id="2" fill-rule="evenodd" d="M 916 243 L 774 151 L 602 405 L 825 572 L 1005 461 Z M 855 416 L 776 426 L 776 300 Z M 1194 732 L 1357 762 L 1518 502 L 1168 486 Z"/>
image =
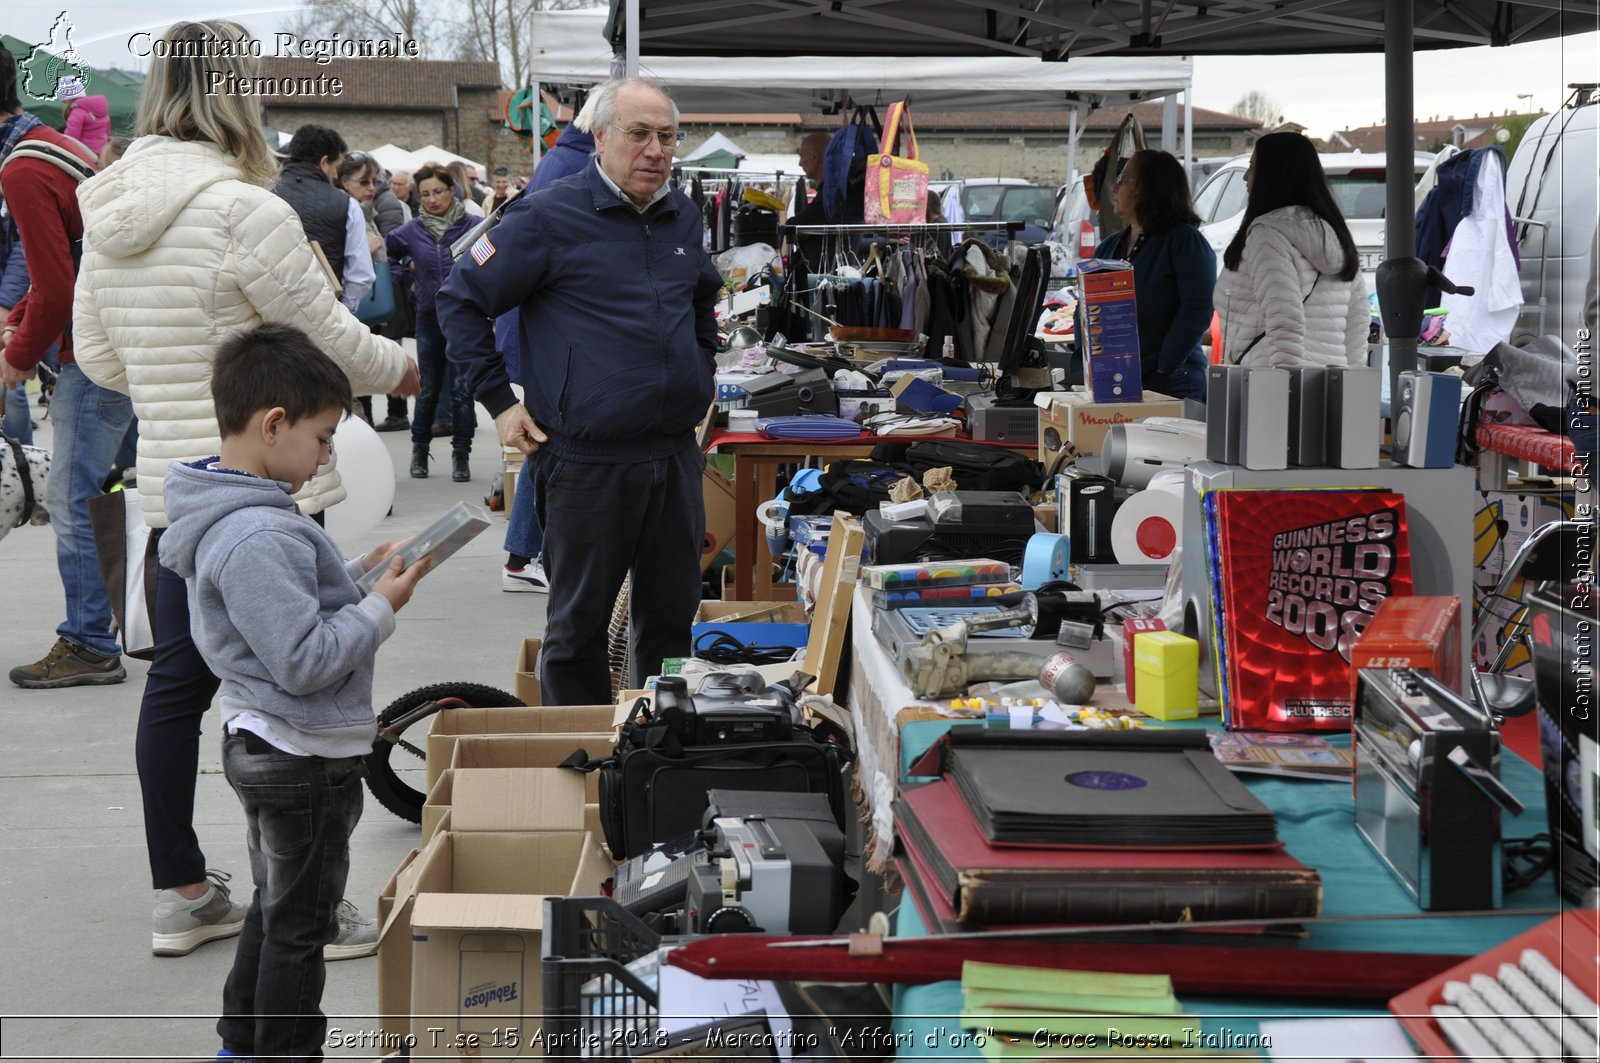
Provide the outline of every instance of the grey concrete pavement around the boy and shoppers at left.
<path id="1" fill-rule="evenodd" d="M 382 400 L 378 402 L 379 410 Z M 38 418 L 35 407 L 35 419 Z M 450 480 L 450 440 L 432 445 L 434 475 L 406 475 L 411 440 L 381 434 L 398 485 L 394 514 L 357 552 L 426 527 L 466 499 L 482 504 L 501 456 L 478 410 L 472 482 Z M 37 445 L 50 447 L 45 419 Z M 544 631 L 542 594 L 499 589 L 504 514 L 430 573 L 400 613 L 378 656 L 378 708 L 418 687 L 472 680 L 510 690 L 522 639 Z M 18 528 L 0 541 L 0 666 L 34 661 L 54 642 L 62 591 L 50 528 Z M 150 880 L 133 741 L 147 666 L 125 658 L 114 687 L 21 690 L 0 677 L 0 1057 L 6 1060 L 205 1060 L 234 941 L 186 957 L 150 956 Z M 202 738 L 195 828 L 206 861 L 250 898 L 243 815 L 221 773 L 213 712 Z M 416 770 L 421 786 L 421 767 Z M 368 794 L 352 839 L 346 895 L 368 916 L 418 828 Z M 376 1029 L 376 959 L 328 965 L 323 1010 L 347 1034 Z M 373 1050 L 330 1057 L 376 1058 Z"/>

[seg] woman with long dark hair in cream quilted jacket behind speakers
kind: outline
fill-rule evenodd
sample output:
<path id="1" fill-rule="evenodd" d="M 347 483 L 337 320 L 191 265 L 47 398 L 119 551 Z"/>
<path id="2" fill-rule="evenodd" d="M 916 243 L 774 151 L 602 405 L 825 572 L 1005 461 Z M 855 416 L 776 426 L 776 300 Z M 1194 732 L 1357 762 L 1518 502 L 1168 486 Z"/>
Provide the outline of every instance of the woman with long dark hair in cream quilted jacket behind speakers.
<path id="1" fill-rule="evenodd" d="M 1371 312 L 1360 255 L 1299 133 L 1256 141 L 1250 202 L 1213 299 L 1229 365 L 1366 365 Z"/>

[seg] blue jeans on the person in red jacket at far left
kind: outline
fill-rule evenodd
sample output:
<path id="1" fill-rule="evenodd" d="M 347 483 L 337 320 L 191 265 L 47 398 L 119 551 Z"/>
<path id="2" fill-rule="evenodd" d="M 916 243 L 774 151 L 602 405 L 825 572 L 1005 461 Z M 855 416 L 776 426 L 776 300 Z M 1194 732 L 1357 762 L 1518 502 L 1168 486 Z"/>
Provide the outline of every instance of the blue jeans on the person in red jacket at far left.
<path id="1" fill-rule="evenodd" d="M 61 586 L 67 592 L 67 618 L 56 634 L 80 650 L 117 656 L 122 647 L 110 631 L 110 599 L 90 530 L 90 496 L 101 493 L 117 448 L 133 424 L 133 403 L 128 395 L 98 386 L 77 362 L 67 362 L 50 400 L 50 416 L 56 434 L 45 504 L 56 530 Z"/>

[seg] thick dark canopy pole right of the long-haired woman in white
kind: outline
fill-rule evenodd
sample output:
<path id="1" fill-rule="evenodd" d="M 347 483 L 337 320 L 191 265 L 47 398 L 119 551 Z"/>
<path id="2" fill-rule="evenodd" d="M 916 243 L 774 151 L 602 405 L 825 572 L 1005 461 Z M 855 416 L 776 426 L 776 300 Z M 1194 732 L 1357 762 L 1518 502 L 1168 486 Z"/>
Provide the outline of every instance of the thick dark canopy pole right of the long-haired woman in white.
<path id="1" fill-rule="evenodd" d="M 1387 261 L 1403 269 L 1403 263 L 1416 258 L 1416 174 L 1411 165 L 1414 150 L 1413 122 L 1414 83 L 1411 48 L 1416 38 L 1413 0 L 1384 0 L 1384 165 L 1386 203 L 1384 250 Z M 1406 271 L 1411 272 L 1411 271 Z M 1379 299 L 1397 296 L 1395 288 L 1379 283 Z M 1418 291 L 1416 314 L 1410 307 L 1384 306 L 1384 328 L 1389 333 L 1389 394 L 1400 394 L 1400 373 L 1416 368 L 1418 331 L 1421 322 L 1421 296 Z M 1411 319 L 1416 320 L 1411 320 Z"/>

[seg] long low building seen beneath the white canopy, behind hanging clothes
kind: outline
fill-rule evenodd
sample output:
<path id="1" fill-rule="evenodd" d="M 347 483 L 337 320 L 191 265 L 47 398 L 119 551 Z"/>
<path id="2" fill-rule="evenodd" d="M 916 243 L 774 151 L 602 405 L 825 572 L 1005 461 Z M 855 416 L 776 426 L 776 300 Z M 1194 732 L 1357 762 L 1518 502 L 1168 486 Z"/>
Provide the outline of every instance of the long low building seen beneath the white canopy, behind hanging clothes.
<path id="1" fill-rule="evenodd" d="M 1104 150 L 1128 110 L 1138 115 L 1146 139 L 1160 144 L 1162 104 L 1102 107 L 1078 120 L 1077 168 L 1086 171 Z M 1178 107 L 1178 138 L 1182 139 L 1182 106 Z M 914 112 L 917 144 L 938 179 L 1026 178 L 1056 186 L 1067 179 L 1066 110 L 974 110 Z M 712 133 L 723 133 L 752 154 L 795 152 L 798 142 L 818 130 L 838 128 L 838 115 L 797 114 L 685 114 L 683 154 L 693 152 Z M 1250 150 L 1261 130 L 1250 118 L 1218 110 L 1194 110 L 1194 152 L 1198 157 L 1240 155 Z"/>

